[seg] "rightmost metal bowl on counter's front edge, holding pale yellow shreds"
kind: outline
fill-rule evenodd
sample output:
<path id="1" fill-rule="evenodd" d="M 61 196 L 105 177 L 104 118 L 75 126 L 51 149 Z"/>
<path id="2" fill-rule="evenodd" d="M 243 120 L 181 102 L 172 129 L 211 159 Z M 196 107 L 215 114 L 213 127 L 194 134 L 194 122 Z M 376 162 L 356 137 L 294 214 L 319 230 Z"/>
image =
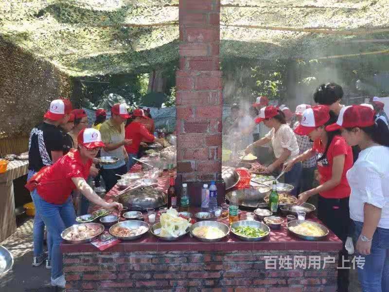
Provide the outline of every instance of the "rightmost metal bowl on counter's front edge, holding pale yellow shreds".
<path id="1" fill-rule="evenodd" d="M 287 224 L 288 231 L 305 240 L 324 239 L 330 231 L 327 227 L 309 220 L 294 220 Z"/>

